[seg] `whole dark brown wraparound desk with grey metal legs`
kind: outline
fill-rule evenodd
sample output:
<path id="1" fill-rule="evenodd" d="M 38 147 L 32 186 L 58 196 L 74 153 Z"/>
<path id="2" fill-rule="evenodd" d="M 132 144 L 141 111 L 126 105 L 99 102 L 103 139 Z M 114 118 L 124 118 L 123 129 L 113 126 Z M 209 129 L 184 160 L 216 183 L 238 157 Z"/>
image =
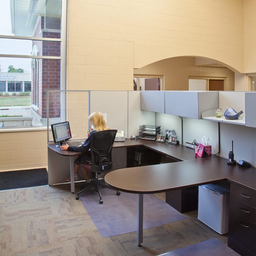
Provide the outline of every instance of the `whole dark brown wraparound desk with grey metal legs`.
<path id="1" fill-rule="evenodd" d="M 138 194 L 137 199 L 137 242 L 143 241 L 143 194 L 166 192 L 170 190 L 195 187 L 198 185 L 228 180 L 246 188 L 254 195 L 256 191 L 256 169 L 238 165 L 227 165 L 227 159 L 212 155 L 207 158 L 195 157 L 195 151 L 181 145 L 171 145 L 147 140 L 115 142 L 113 150 L 144 146 L 161 153 L 176 162 L 116 169 L 105 176 L 106 183 L 120 191 Z M 70 157 L 71 192 L 74 192 L 74 156 L 77 152 L 62 151 L 55 145 L 48 149 L 64 157 Z M 51 154 L 48 150 L 48 157 Z M 113 157 L 113 162 L 115 158 Z M 54 170 L 51 170 L 54 171 Z"/>

